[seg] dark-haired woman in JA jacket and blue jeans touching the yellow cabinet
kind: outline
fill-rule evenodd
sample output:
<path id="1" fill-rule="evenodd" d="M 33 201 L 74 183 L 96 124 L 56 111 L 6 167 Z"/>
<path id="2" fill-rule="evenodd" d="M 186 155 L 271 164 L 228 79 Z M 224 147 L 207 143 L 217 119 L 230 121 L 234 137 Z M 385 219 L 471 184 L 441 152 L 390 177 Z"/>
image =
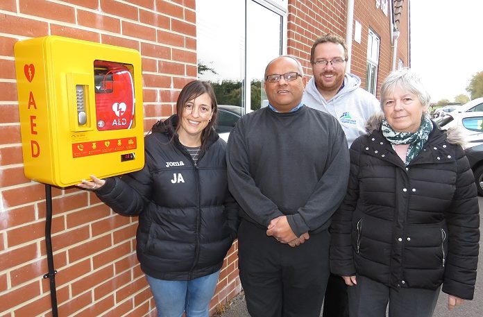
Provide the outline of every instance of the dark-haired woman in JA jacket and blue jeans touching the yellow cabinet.
<path id="1" fill-rule="evenodd" d="M 228 192 L 226 142 L 214 131 L 217 100 L 194 80 L 176 111 L 146 136 L 141 171 L 83 180 L 115 212 L 139 216 L 137 259 L 159 317 L 209 316 L 208 305 L 237 235 L 238 207 Z"/>

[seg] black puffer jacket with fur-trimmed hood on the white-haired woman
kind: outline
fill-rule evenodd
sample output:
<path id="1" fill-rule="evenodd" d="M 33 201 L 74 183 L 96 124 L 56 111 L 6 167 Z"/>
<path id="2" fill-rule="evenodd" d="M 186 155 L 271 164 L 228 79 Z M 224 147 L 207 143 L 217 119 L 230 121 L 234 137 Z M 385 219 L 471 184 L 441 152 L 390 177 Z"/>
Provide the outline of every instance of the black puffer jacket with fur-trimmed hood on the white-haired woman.
<path id="1" fill-rule="evenodd" d="M 407 167 L 379 120 L 350 147 L 348 191 L 332 219 L 332 273 L 357 272 L 394 289 L 443 283 L 445 293 L 473 298 L 480 241 L 473 173 L 461 146 L 433 126 Z"/>

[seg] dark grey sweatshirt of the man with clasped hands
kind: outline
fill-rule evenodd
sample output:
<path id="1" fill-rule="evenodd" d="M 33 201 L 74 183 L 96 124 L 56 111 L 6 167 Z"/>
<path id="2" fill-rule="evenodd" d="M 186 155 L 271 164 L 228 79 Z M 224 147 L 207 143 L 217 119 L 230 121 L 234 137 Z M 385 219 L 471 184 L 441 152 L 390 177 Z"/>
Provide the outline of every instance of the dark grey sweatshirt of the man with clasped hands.
<path id="1" fill-rule="evenodd" d="M 242 218 L 261 228 L 287 215 L 297 237 L 321 232 L 346 195 L 344 131 L 334 117 L 305 106 L 245 114 L 230 133 L 226 160 Z"/>

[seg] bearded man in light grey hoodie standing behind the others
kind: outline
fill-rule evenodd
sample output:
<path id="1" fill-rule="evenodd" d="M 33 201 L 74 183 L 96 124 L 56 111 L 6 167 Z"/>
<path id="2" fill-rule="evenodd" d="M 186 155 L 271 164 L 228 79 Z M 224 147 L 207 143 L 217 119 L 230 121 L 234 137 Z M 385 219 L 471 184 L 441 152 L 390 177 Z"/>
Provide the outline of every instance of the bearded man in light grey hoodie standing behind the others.
<path id="1" fill-rule="evenodd" d="M 341 123 L 347 143 L 366 133 L 366 121 L 380 112 L 380 103 L 362 89 L 361 79 L 346 73 L 348 52 L 342 37 L 327 34 L 315 40 L 310 50 L 312 77 L 302 102 L 332 114 Z M 324 317 L 348 317 L 347 286 L 340 276 L 330 275 L 323 304 Z"/>

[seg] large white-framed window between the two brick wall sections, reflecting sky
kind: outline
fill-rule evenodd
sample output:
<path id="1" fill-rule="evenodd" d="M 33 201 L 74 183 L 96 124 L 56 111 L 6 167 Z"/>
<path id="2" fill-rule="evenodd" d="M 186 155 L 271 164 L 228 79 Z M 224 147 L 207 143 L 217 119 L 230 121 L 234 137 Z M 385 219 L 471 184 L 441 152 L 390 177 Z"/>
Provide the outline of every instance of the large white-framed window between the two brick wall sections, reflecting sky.
<path id="1" fill-rule="evenodd" d="M 196 1 L 198 78 L 210 81 L 219 104 L 243 112 L 266 105 L 264 71 L 286 51 L 286 13 L 287 0 Z"/>

